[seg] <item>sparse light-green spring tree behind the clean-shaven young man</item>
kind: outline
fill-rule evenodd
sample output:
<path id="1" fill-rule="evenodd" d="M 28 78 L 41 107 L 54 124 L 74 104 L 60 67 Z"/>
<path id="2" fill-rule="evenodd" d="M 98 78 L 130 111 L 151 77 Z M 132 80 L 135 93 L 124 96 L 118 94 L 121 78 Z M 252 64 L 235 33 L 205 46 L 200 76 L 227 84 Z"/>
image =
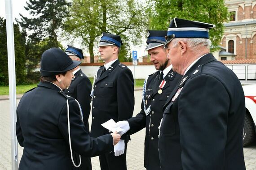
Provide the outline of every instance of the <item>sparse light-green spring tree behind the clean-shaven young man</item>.
<path id="1" fill-rule="evenodd" d="M 135 0 L 73 0 L 69 11 L 64 29 L 69 37 L 82 39 L 89 49 L 91 63 L 93 47 L 102 32 L 118 34 L 123 42 L 128 42 L 119 55 L 124 58 L 129 43 L 141 43 L 148 26 L 145 8 Z"/>

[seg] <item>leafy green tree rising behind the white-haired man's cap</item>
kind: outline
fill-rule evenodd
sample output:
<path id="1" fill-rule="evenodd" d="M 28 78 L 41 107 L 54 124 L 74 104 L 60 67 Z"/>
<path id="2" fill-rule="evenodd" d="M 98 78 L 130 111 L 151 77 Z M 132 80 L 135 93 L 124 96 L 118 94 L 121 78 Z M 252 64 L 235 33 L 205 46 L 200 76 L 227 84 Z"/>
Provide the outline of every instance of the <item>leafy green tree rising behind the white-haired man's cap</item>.
<path id="1" fill-rule="evenodd" d="M 212 46 L 217 47 L 221 42 L 223 22 L 229 17 L 224 0 L 151 0 L 151 5 L 154 8 L 148 11 L 150 29 L 167 30 L 174 17 L 207 22 L 216 25 L 209 32 Z"/>

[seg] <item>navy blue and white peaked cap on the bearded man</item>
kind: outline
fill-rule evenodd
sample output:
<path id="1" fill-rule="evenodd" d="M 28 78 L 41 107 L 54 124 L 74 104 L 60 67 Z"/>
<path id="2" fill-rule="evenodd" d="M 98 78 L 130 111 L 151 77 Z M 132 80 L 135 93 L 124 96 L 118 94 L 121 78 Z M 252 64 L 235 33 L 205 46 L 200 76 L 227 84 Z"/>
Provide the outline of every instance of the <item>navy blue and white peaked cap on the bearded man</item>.
<path id="1" fill-rule="evenodd" d="M 149 32 L 149 36 L 146 41 L 147 46 L 146 46 L 145 51 L 164 45 L 165 36 L 167 35 L 167 31 L 148 30 L 148 32 Z"/>

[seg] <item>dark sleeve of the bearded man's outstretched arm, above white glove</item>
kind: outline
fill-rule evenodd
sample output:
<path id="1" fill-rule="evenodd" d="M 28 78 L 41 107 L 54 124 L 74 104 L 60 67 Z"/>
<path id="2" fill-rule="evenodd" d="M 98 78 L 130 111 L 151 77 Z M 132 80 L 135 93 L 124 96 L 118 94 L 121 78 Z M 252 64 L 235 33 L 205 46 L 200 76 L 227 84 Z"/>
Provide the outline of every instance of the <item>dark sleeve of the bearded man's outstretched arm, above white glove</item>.
<path id="1" fill-rule="evenodd" d="M 130 130 L 128 131 L 129 135 L 139 132 L 141 129 L 146 127 L 146 114 L 144 112 L 143 101 L 141 102 L 141 112 L 127 121 L 130 126 Z"/>

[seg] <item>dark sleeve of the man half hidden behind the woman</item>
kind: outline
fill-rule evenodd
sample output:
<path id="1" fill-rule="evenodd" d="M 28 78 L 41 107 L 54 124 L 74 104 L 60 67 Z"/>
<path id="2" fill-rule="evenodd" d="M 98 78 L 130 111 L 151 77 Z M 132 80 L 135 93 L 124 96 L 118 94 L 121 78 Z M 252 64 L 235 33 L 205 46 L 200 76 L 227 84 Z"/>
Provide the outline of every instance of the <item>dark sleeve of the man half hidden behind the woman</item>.
<path id="1" fill-rule="evenodd" d="M 84 116 L 84 125 L 88 123 L 90 111 L 91 111 L 91 90 L 92 90 L 92 84 L 91 81 L 84 77 L 81 79 L 79 84 L 77 85 L 77 101 L 80 103 L 82 110 L 83 110 L 83 116 Z"/>

